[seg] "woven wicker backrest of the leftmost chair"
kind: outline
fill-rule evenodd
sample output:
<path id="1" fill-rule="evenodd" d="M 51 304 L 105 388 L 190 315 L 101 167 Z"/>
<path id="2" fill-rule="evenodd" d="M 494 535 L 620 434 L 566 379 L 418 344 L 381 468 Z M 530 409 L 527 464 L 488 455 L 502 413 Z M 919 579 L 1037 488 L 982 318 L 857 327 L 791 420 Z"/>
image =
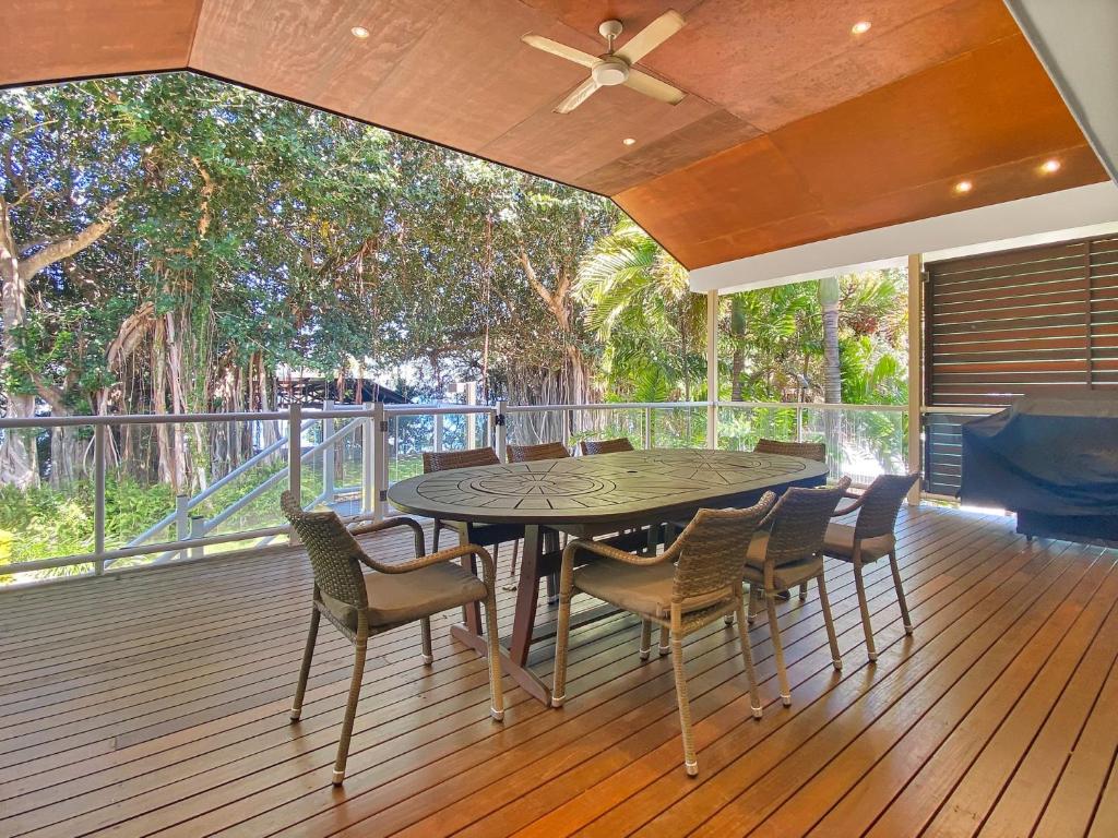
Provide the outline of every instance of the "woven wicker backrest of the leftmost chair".
<path id="1" fill-rule="evenodd" d="M 333 512 L 304 512 L 291 492 L 283 493 L 280 504 L 306 546 L 319 590 L 347 606 L 366 609 L 369 600 L 359 558 L 364 551 L 341 518 Z"/>

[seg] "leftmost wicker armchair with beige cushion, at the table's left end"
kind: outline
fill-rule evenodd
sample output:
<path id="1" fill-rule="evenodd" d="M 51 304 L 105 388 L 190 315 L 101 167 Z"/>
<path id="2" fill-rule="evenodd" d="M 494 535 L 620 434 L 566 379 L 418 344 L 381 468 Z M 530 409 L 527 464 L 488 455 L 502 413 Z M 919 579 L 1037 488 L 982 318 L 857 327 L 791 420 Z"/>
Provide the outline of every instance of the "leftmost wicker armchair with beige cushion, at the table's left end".
<path id="1" fill-rule="evenodd" d="M 303 697 L 311 674 L 320 618 L 325 617 L 332 622 L 354 647 L 349 701 L 345 704 L 338 758 L 334 761 L 334 785 L 340 785 L 345 779 L 345 760 L 349 756 L 357 704 L 361 696 L 366 653 L 369 638 L 373 635 L 418 620 L 423 660 L 430 665 L 432 615 L 473 602 L 484 602 L 492 701 L 490 715 L 498 722 L 504 718 L 494 593 L 496 573 L 493 559 L 484 547 L 466 544 L 426 555 L 423 527 L 411 518 L 392 517 L 349 530 L 333 512 L 304 512 L 291 492 L 283 493 L 281 505 L 284 515 L 306 546 L 314 572 L 311 630 L 306 637 L 295 701 L 291 708 L 293 722 L 297 722 L 303 712 Z M 415 535 L 415 558 L 406 562 L 379 562 L 369 556 L 354 537 L 397 526 L 406 526 Z M 482 579 L 453 561 L 466 555 L 481 562 Z M 372 572 L 362 572 L 362 564 Z"/>

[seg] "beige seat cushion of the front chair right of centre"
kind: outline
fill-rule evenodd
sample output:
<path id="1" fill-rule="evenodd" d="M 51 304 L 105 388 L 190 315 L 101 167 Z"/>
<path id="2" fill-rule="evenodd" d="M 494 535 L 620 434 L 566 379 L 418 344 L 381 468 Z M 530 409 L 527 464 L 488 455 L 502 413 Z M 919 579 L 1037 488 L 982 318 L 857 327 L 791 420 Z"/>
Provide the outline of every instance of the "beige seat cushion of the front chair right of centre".
<path id="1" fill-rule="evenodd" d="M 575 588 L 626 611 L 666 618 L 672 612 L 674 578 L 671 562 L 641 566 L 603 559 L 575 571 Z M 692 597 L 683 603 L 683 612 L 710 608 L 730 596 L 728 585 L 724 591 Z"/>

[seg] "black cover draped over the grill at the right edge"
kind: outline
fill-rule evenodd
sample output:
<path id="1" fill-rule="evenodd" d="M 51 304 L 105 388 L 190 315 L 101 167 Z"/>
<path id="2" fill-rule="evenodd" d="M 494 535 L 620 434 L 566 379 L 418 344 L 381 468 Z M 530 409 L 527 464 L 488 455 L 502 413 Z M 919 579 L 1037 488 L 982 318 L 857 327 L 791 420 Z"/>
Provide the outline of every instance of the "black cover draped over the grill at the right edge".
<path id="1" fill-rule="evenodd" d="M 963 426 L 959 498 L 1036 535 L 1118 539 L 1118 398 L 1023 397 Z"/>

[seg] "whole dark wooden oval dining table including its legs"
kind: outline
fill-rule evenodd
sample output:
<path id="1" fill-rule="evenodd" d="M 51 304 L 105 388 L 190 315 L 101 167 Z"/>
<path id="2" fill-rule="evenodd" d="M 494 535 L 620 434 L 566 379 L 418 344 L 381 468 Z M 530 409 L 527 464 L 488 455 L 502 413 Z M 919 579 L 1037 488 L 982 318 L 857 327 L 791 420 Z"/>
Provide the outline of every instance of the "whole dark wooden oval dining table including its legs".
<path id="1" fill-rule="evenodd" d="M 688 520 L 702 507 L 749 506 L 767 491 L 818 486 L 826 476 L 825 464 L 800 457 L 653 448 L 433 472 L 394 484 L 388 499 L 401 512 L 465 522 L 463 543 L 487 525 L 514 525 L 518 534 L 523 527 L 513 629 L 502 642 L 502 664 L 529 694 L 550 704 L 550 688 L 529 668 L 528 653 L 533 641 L 555 636 L 553 621 L 536 626 L 536 611 L 540 580 L 559 571 L 558 533 L 608 536 L 603 540 L 623 550 L 655 549 L 666 522 Z M 615 612 L 590 609 L 572 626 Z M 486 654 L 476 603 L 451 634 Z"/>

